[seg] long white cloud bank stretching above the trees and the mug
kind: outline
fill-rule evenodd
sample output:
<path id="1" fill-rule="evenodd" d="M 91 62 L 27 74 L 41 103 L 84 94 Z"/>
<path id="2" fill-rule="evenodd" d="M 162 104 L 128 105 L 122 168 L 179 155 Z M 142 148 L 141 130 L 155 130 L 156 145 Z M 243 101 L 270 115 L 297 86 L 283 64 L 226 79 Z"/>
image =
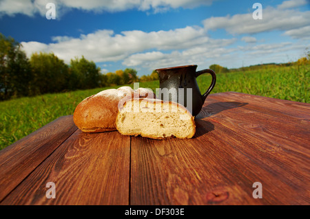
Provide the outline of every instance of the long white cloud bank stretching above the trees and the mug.
<path id="1" fill-rule="evenodd" d="M 30 57 L 34 52 L 53 52 L 66 63 L 85 56 L 96 63 L 123 61 L 124 65 L 149 67 L 180 63 L 203 63 L 205 59 L 220 56 L 237 39 L 211 39 L 203 28 L 185 27 L 175 30 L 143 32 L 99 30 L 81 34 L 73 39 L 55 36 L 56 43 L 22 42 L 23 50 Z M 152 52 L 146 52 L 154 50 Z"/>

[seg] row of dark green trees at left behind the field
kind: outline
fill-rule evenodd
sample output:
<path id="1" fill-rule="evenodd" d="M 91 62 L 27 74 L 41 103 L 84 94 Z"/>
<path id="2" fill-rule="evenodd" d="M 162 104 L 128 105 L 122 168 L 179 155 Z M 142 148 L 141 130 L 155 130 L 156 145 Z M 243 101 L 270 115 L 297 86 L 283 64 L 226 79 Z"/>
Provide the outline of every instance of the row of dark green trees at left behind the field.
<path id="1" fill-rule="evenodd" d="M 139 79 L 137 71 L 132 68 L 103 74 L 100 67 L 84 56 L 71 59 L 70 65 L 53 53 L 34 53 L 28 59 L 19 42 L 0 33 L 0 101 L 12 97 L 151 81 L 158 79 L 156 75 L 153 72 Z"/>

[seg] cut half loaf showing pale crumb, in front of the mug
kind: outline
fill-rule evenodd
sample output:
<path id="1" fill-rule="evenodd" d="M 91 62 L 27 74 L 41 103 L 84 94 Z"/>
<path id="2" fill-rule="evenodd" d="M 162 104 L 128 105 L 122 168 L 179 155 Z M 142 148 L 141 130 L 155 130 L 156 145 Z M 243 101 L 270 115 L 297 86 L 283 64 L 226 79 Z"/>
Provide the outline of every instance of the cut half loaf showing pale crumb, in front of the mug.
<path id="1" fill-rule="evenodd" d="M 123 135 L 147 138 L 192 138 L 194 116 L 183 106 L 159 99 L 132 98 L 118 109 L 116 129 Z"/>

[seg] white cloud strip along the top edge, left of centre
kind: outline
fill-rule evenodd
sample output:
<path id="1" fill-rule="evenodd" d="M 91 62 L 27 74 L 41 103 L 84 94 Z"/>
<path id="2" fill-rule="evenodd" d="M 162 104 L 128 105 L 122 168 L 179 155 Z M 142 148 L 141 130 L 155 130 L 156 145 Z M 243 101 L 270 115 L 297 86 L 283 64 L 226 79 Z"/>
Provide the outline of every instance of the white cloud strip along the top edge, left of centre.
<path id="1" fill-rule="evenodd" d="M 25 14 L 34 16 L 39 13 L 45 16 L 47 3 L 55 3 L 56 14 L 75 8 L 94 12 L 120 12 L 136 8 L 137 10 L 154 10 L 161 12 L 170 8 L 194 8 L 200 5 L 211 5 L 216 0 L 2 0 L 0 1 L 0 15 Z"/>

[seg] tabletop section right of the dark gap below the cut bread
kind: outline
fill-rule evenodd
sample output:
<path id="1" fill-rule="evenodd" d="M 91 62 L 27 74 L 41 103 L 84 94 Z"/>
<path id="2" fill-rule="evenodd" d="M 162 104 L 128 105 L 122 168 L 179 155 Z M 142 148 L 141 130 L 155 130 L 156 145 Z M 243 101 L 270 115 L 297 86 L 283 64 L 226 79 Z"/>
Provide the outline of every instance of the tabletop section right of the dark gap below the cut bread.
<path id="1" fill-rule="evenodd" d="M 192 139 L 132 138 L 131 205 L 309 205 L 307 103 L 213 94 Z M 262 183 L 262 198 L 252 185 Z"/>

